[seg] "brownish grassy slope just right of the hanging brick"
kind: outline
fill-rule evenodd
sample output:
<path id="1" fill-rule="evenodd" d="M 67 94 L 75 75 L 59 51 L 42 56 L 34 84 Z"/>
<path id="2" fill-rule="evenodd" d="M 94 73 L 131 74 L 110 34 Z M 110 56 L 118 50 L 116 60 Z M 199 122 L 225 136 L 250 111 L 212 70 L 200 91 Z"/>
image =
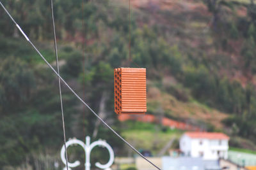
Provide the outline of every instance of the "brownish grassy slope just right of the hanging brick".
<path id="1" fill-rule="evenodd" d="M 148 110 L 156 113 L 157 105 L 163 108 L 166 115 L 184 122 L 191 122 L 204 129 L 202 123 L 211 124 L 220 130 L 223 128 L 221 121 L 228 117 L 227 114 L 209 108 L 193 99 L 188 102 L 179 101 L 171 94 L 161 92 L 156 87 L 151 87 L 148 89 Z"/>

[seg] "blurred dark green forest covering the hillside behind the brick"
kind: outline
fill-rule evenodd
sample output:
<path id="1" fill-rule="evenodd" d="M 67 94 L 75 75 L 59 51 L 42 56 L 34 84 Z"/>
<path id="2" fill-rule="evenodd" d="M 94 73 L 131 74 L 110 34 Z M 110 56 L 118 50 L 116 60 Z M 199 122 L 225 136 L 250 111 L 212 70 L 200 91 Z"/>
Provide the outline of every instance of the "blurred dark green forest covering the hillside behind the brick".
<path id="1" fill-rule="evenodd" d="M 60 74 L 118 132 L 127 127 L 113 111 L 113 69 L 139 66 L 147 68 L 150 85 L 162 93 L 227 113 L 223 129 L 211 124 L 205 130 L 255 143 L 256 3 L 189 3 L 203 10 L 177 12 L 159 1 L 132 6 L 130 21 L 127 1 L 54 1 Z M 55 66 L 50 1 L 3 4 Z M 0 16 L 0 169 L 24 162 L 33 167 L 33 162 L 44 164 L 40 155 L 54 155 L 50 162 L 58 160 L 63 132 L 57 78 L 3 9 Z M 172 77 L 175 83 L 164 84 L 165 77 Z M 127 156 L 122 141 L 100 125 L 64 85 L 63 104 L 67 138 L 89 135 L 106 139 L 116 154 Z M 152 107 L 158 106 L 149 104 Z M 158 112 L 149 109 L 147 114 Z M 164 115 L 180 120 L 166 110 Z M 230 145 L 243 147 L 236 140 Z M 100 157 L 96 153 L 92 159 Z"/>

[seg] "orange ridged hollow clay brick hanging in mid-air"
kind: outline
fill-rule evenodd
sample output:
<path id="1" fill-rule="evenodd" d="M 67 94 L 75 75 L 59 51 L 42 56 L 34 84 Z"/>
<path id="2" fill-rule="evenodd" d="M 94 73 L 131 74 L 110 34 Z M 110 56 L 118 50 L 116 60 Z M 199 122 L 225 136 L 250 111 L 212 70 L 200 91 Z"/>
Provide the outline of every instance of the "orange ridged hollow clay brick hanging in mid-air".
<path id="1" fill-rule="evenodd" d="M 115 69 L 115 113 L 144 114 L 146 111 L 146 69 Z"/>

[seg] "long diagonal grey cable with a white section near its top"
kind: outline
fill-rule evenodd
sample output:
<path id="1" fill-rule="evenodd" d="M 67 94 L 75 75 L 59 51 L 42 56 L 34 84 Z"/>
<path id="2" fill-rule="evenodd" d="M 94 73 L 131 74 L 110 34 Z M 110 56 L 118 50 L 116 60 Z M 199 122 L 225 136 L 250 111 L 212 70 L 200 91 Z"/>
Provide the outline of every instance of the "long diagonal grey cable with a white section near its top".
<path id="1" fill-rule="evenodd" d="M 128 143 L 124 138 L 122 138 L 122 136 L 120 136 L 114 129 L 112 129 L 112 127 L 110 127 L 104 120 L 102 120 L 102 118 L 99 117 L 99 115 L 97 115 L 97 113 L 95 113 L 95 111 L 92 110 L 92 108 L 90 108 L 90 106 L 85 103 L 83 101 L 83 99 L 81 99 L 81 97 L 78 96 L 78 94 L 68 85 L 68 83 L 60 76 L 60 74 L 57 73 L 57 71 L 51 66 L 51 64 L 49 64 L 49 62 L 45 59 L 45 57 L 42 55 L 42 53 L 39 52 L 39 50 L 36 48 L 36 46 L 30 41 L 30 39 L 28 38 L 28 36 L 24 33 L 24 31 L 20 28 L 20 26 L 17 24 L 17 22 L 15 22 L 15 20 L 12 18 L 12 15 L 10 15 L 10 13 L 6 10 L 6 8 L 3 6 L 3 4 L 0 1 L 0 4 L 2 6 L 2 8 L 4 9 L 4 11 L 6 11 L 6 13 L 8 14 L 8 16 L 12 19 L 13 23 L 16 25 L 16 27 L 18 27 L 19 31 L 22 33 L 22 35 L 24 36 L 24 38 L 27 39 L 27 41 L 30 43 L 30 45 L 36 50 L 36 52 L 40 55 L 40 57 L 44 60 L 44 62 L 51 68 L 51 70 L 54 72 L 54 74 L 56 74 L 58 76 L 58 78 L 60 78 L 60 80 L 66 85 L 66 87 L 77 97 L 77 99 L 79 99 L 79 101 L 81 101 L 90 111 L 92 111 L 93 115 L 95 115 L 95 117 L 99 118 L 99 120 L 102 122 L 102 124 L 104 124 L 106 127 L 108 127 L 108 129 L 110 131 L 112 131 L 116 136 L 118 136 L 118 138 L 120 138 L 122 141 L 124 141 L 124 143 L 126 145 L 128 145 L 130 148 L 132 148 L 132 150 L 134 150 L 134 152 L 138 153 L 138 155 L 140 155 L 143 159 L 147 160 L 147 162 L 149 162 L 150 164 L 152 164 L 152 166 L 156 167 L 157 169 L 161 170 L 159 167 L 157 167 L 153 162 L 151 162 L 150 160 L 148 160 L 146 157 L 144 157 L 140 152 L 138 152 L 138 150 L 136 150 L 136 148 L 134 148 L 130 143 Z"/>

